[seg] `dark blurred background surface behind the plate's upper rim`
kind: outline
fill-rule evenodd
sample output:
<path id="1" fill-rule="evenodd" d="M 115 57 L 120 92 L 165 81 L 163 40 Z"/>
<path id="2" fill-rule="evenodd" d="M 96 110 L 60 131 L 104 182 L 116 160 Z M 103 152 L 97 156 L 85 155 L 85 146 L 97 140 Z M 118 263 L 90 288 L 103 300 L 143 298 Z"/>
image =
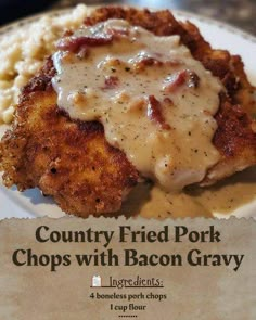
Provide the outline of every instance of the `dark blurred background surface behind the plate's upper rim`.
<path id="1" fill-rule="evenodd" d="M 42 10 L 61 9 L 77 3 L 131 4 L 150 8 L 178 9 L 229 23 L 256 35 L 256 0 L 0 0 L 0 25 Z"/>

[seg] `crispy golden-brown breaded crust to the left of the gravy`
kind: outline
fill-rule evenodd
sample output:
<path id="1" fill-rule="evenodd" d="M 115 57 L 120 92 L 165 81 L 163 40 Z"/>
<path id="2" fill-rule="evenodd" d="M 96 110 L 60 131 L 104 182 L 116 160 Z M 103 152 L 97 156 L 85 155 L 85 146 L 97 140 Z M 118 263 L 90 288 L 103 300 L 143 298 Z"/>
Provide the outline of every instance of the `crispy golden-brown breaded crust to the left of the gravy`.
<path id="1" fill-rule="evenodd" d="M 102 125 L 72 121 L 57 108 L 52 74 L 48 61 L 23 91 L 13 129 L 0 144 L 3 181 L 20 190 L 39 187 L 66 213 L 116 212 L 137 170 L 105 141 Z"/>

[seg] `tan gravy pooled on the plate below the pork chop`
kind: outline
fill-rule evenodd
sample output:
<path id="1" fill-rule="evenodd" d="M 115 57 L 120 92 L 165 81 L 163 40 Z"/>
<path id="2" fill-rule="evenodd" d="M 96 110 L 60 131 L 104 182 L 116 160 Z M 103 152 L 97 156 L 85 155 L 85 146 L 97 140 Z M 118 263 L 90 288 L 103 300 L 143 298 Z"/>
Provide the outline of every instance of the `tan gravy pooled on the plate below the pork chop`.
<path id="1" fill-rule="evenodd" d="M 180 193 L 167 193 L 152 183 L 140 183 L 124 202 L 118 215 L 144 218 L 184 218 L 231 216 L 256 201 L 256 167 L 225 179 L 213 187 L 190 187 Z"/>

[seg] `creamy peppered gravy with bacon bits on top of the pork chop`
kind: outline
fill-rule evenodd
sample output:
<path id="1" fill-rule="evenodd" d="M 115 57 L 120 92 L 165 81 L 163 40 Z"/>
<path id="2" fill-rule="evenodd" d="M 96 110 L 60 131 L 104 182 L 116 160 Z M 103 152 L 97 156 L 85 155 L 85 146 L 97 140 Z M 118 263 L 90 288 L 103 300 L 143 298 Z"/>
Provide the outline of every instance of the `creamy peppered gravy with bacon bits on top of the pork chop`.
<path id="1" fill-rule="evenodd" d="M 89 42 L 68 49 L 82 37 Z M 143 177 L 178 191 L 219 161 L 212 140 L 223 88 L 178 36 L 110 20 L 82 27 L 60 48 L 52 81 L 59 106 L 73 119 L 100 121 Z"/>

